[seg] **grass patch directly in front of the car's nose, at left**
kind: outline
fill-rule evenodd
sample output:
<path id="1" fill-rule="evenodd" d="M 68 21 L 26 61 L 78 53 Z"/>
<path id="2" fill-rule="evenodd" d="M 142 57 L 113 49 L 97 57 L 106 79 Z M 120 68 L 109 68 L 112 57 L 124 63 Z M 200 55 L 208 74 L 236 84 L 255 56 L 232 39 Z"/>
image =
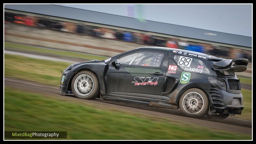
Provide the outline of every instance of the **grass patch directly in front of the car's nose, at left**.
<path id="1" fill-rule="evenodd" d="M 61 77 L 60 71 L 70 64 L 4 54 L 4 76 L 58 86 Z"/>

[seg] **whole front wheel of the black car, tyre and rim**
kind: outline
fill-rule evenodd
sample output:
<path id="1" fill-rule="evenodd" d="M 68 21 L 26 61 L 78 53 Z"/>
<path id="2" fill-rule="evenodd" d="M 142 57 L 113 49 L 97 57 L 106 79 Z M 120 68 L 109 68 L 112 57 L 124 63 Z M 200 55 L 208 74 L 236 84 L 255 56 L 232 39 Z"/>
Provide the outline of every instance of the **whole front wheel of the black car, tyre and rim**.
<path id="1" fill-rule="evenodd" d="M 72 79 L 71 88 L 74 95 L 80 99 L 95 99 L 100 95 L 99 79 L 91 71 L 78 72 Z"/>

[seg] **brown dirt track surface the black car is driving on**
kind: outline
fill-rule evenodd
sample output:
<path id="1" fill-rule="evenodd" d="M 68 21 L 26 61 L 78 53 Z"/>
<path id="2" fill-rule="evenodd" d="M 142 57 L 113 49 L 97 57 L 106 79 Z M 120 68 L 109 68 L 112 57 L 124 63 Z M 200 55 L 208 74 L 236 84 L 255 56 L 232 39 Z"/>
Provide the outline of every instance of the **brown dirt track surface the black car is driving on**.
<path id="1" fill-rule="evenodd" d="M 137 104 L 123 103 L 117 101 L 106 101 L 102 99 L 86 100 L 78 99 L 73 95 L 62 96 L 59 94 L 58 86 L 43 85 L 36 82 L 4 78 L 4 86 L 12 87 L 14 89 L 20 89 L 24 91 L 29 91 L 33 93 L 42 93 L 46 97 L 51 97 L 52 99 L 62 99 L 68 100 L 69 102 L 80 103 L 80 104 L 90 104 L 96 108 L 100 109 L 110 109 L 117 111 L 126 111 L 129 113 L 143 114 L 156 118 L 165 118 L 174 121 L 182 121 L 184 123 L 194 124 L 197 126 L 208 127 L 218 130 L 226 130 L 230 132 L 246 133 L 252 134 L 252 121 L 249 120 L 239 120 L 236 118 L 227 118 L 225 120 L 212 120 L 208 118 L 189 118 L 184 116 L 180 110 L 157 108 L 150 106 L 143 106 Z"/>

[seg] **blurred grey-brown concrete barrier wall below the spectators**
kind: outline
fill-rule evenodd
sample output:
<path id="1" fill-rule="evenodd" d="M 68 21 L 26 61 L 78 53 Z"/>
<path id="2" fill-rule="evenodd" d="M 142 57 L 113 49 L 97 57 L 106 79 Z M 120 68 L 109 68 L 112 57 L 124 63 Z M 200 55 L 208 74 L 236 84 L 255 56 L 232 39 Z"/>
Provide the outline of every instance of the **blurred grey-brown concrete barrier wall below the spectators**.
<path id="1" fill-rule="evenodd" d="M 10 24 L 6 29 L 4 40 L 103 56 L 114 56 L 124 51 L 146 46 L 19 24 Z"/>

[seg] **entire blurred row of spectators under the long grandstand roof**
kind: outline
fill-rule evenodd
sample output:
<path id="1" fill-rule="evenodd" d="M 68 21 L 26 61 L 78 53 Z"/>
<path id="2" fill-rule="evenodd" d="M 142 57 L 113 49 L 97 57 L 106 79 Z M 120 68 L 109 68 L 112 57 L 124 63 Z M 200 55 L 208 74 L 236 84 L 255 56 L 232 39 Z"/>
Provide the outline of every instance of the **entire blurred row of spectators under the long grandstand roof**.
<path id="1" fill-rule="evenodd" d="M 37 17 L 37 20 L 34 21 L 32 16 L 26 15 L 18 15 L 13 13 L 5 13 L 4 14 L 4 21 L 17 23 L 17 24 L 26 24 L 28 26 L 38 26 L 48 29 L 55 29 L 60 31 L 68 31 L 65 27 L 67 24 L 63 21 L 57 21 L 47 18 Z M 86 34 L 92 35 L 96 37 L 102 38 L 110 38 L 110 39 L 117 39 L 123 40 L 127 42 L 135 42 L 145 45 L 154 45 L 154 46 L 162 46 L 162 47 L 169 47 L 169 48 L 176 48 L 181 50 L 189 50 L 189 51 L 197 51 L 197 52 L 204 52 L 214 56 L 220 56 L 224 58 L 230 57 L 230 54 L 236 56 L 236 58 L 247 58 L 251 61 L 252 53 L 251 51 L 245 51 L 240 49 L 228 48 L 218 45 L 209 45 L 209 44 L 202 44 L 196 43 L 191 41 L 185 41 L 175 38 L 166 38 L 166 37 L 159 37 L 155 36 L 154 33 L 147 32 L 145 33 L 136 33 L 131 31 L 121 31 L 115 30 L 110 28 L 102 28 L 92 25 L 87 25 L 86 23 L 83 24 L 75 24 L 75 30 L 73 32 L 79 34 Z"/>

